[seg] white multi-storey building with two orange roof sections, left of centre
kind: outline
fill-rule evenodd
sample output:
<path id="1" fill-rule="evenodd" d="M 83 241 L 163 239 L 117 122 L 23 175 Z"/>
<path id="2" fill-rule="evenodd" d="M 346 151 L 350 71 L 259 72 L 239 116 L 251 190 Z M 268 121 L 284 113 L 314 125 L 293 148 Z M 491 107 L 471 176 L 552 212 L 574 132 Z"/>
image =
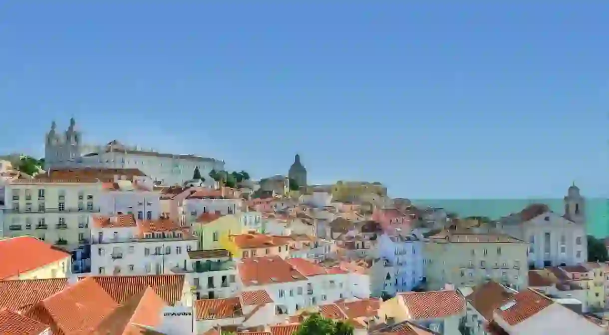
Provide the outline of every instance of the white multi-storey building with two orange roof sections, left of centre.
<path id="1" fill-rule="evenodd" d="M 188 266 L 197 239 L 169 219 L 139 220 L 133 214 L 93 216 L 91 274 L 146 275 Z"/>

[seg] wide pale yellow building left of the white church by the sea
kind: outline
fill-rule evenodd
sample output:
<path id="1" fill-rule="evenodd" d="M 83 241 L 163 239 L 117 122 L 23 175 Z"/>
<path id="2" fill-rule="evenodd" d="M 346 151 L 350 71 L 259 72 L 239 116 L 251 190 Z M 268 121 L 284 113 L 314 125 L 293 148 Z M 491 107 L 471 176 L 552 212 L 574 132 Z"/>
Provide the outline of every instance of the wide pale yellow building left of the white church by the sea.
<path id="1" fill-rule="evenodd" d="M 528 244 L 505 234 L 442 231 L 424 245 L 424 274 L 428 289 L 446 283 L 473 286 L 488 279 L 524 289 L 528 283 Z"/>

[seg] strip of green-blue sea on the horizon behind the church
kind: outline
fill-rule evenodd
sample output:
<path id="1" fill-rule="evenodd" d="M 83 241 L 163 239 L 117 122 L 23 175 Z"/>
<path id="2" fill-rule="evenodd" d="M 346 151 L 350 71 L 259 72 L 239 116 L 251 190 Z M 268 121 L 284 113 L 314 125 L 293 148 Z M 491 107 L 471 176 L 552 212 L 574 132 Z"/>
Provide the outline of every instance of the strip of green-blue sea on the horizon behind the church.
<path id="1" fill-rule="evenodd" d="M 531 203 L 545 203 L 552 211 L 565 213 L 563 199 L 412 199 L 415 206 L 445 208 L 465 216 L 487 216 L 498 219 L 523 210 Z M 597 238 L 609 236 L 609 199 L 586 199 L 586 230 Z"/>

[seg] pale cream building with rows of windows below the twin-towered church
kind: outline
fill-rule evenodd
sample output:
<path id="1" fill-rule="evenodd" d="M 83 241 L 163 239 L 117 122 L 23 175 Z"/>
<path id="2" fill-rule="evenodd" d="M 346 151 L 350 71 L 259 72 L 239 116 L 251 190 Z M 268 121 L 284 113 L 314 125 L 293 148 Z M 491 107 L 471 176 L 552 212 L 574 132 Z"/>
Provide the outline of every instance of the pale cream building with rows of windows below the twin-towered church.
<path id="1" fill-rule="evenodd" d="M 7 185 L 4 235 L 34 236 L 73 250 L 88 243 L 91 213 L 99 212 L 99 180 L 34 178 Z"/>

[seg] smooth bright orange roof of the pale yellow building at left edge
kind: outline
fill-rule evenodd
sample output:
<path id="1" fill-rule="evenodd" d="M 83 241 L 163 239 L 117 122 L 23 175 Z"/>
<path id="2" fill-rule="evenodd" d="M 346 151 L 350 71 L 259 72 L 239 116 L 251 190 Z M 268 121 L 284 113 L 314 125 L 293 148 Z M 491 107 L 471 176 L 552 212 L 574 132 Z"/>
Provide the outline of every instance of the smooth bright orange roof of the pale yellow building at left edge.
<path id="1" fill-rule="evenodd" d="M 29 255 L 23 257 L 23 255 Z M 37 238 L 21 236 L 0 241 L 0 280 L 69 259 L 69 253 Z M 69 266 L 69 264 L 66 264 Z"/>

